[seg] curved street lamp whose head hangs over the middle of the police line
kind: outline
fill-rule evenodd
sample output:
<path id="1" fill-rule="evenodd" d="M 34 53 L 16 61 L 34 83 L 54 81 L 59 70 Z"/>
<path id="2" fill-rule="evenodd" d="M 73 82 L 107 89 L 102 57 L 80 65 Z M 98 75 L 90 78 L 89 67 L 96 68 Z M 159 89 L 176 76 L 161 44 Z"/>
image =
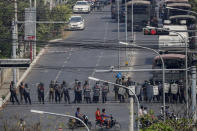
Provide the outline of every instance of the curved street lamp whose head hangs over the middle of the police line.
<path id="1" fill-rule="evenodd" d="M 139 117 L 139 114 L 138 114 L 138 111 L 140 109 L 140 103 L 139 103 L 139 100 L 138 100 L 138 97 L 137 95 L 128 87 L 124 86 L 124 85 L 119 85 L 119 84 L 116 84 L 116 83 L 113 83 L 113 82 L 109 82 L 109 81 L 105 81 L 105 80 L 101 80 L 101 79 L 98 79 L 98 78 L 95 78 L 95 77 L 88 77 L 88 79 L 90 80 L 93 80 L 93 81 L 101 81 L 101 82 L 106 82 L 106 83 L 109 83 L 109 84 L 112 84 L 112 85 L 116 85 L 116 86 L 119 86 L 119 87 L 122 87 L 122 88 L 125 88 L 125 89 L 128 89 L 129 91 L 132 92 L 132 94 L 135 96 L 136 98 L 136 101 L 137 101 L 137 117 Z M 130 102 L 132 101 L 132 97 L 130 98 Z M 131 108 L 130 108 L 130 111 L 131 111 Z M 130 120 L 131 121 L 131 120 Z M 139 130 L 139 119 L 137 120 L 137 130 Z M 132 122 L 132 121 L 131 121 Z M 133 124 L 132 124 L 133 125 Z M 132 129 L 133 130 L 133 127 Z"/>

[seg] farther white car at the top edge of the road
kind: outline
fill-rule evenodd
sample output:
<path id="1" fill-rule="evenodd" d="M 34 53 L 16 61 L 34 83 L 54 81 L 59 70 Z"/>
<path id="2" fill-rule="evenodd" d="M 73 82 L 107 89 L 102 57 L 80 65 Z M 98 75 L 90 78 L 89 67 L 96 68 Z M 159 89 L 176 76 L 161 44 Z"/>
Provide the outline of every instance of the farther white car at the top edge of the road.
<path id="1" fill-rule="evenodd" d="M 77 1 L 73 7 L 74 13 L 89 13 L 90 10 L 90 4 L 87 1 Z"/>

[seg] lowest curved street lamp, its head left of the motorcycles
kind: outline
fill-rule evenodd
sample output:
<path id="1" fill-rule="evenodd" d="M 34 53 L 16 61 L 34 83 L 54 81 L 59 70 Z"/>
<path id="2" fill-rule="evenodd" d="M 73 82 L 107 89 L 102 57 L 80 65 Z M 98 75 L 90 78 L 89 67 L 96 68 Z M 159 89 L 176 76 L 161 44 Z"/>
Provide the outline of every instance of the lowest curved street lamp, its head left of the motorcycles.
<path id="1" fill-rule="evenodd" d="M 87 129 L 87 131 L 90 131 L 88 126 L 79 118 L 71 115 L 65 115 L 65 114 L 59 114 L 59 113 L 53 113 L 53 112 L 45 112 L 45 111 L 40 111 L 40 110 L 30 110 L 32 113 L 37 113 L 37 114 L 49 114 L 49 115 L 55 115 L 55 116 L 63 116 L 63 117 L 69 117 L 69 118 L 74 118 L 76 120 L 79 120 Z"/>

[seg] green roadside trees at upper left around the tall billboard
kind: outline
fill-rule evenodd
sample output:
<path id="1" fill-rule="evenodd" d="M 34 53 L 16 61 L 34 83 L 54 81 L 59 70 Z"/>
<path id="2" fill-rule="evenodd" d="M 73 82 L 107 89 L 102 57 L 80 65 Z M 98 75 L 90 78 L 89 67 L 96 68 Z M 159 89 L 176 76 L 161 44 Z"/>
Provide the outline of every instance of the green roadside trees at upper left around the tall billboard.
<path id="1" fill-rule="evenodd" d="M 71 2 L 71 0 L 69 0 Z M 72 2 L 71 2 L 72 3 Z M 24 21 L 25 8 L 29 0 L 17 0 L 18 20 Z M 58 5 L 49 10 L 44 0 L 37 1 L 37 21 L 68 21 L 72 13 L 70 4 Z M 12 20 L 14 18 L 14 2 L 0 0 L 0 58 L 10 58 L 12 51 Z M 37 40 L 49 40 L 57 37 L 65 24 L 37 24 Z M 19 37 L 24 38 L 24 25 L 18 24 Z"/>

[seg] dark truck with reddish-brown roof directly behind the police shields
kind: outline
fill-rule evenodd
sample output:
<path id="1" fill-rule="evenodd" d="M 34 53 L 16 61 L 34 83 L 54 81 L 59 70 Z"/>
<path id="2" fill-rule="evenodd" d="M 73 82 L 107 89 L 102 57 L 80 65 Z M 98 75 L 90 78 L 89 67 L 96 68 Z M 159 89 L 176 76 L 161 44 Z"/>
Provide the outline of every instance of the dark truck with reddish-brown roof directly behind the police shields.
<path id="1" fill-rule="evenodd" d="M 183 54 L 162 54 L 165 69 L 184 69 L 185 68 L 185 55 Z M 162 63 L 159 56 L 153 60 L 152 69 L 162 69 Z M 153 81 L 162 82 L 162 71 L 153 72 Z M 171 81 L 179 81 L 185 79 L 185 71 L 165 70 L 165 79 L 167 83 Z"/>

